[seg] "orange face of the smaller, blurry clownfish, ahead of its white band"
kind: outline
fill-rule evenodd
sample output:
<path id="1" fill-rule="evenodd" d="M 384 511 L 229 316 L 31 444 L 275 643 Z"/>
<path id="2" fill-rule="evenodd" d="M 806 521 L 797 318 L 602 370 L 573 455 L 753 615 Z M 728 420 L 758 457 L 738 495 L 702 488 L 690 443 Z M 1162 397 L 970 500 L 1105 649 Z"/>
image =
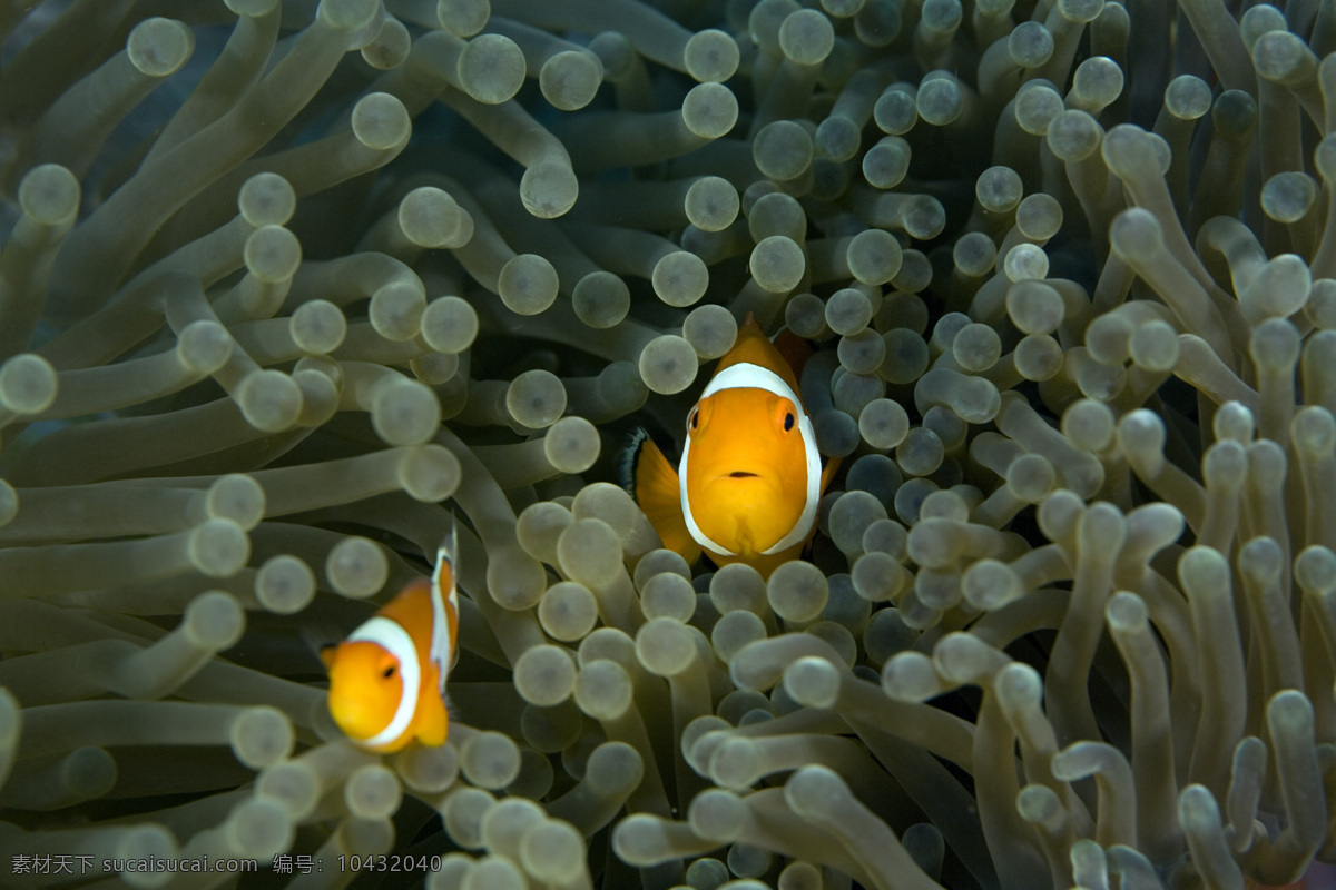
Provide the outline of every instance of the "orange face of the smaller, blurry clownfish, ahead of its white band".
<path id="1" fill-rule="evenodd" d="M 333 648 L 326 664 L 330 714 L 345 735 L 365 745 L 394 719 L 403 695 L 399 659 L 377 643 L 347 640 Z"/>

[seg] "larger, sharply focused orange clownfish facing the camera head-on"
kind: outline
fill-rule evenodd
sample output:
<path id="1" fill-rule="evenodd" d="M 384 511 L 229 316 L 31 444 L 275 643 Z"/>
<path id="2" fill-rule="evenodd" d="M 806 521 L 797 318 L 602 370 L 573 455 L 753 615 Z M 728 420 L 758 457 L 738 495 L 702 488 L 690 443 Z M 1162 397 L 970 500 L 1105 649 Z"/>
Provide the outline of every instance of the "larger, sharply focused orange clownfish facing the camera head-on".
<path id="1" fill-rule="evenodd" d="M 836 466 L 822 467 L 794 368 L 748 314 L 687 415 L 677 470 L 639 430 L 624 471 L 664 546 L 688 564 L 704 551 L 770 576 L 811 540 Z"/>

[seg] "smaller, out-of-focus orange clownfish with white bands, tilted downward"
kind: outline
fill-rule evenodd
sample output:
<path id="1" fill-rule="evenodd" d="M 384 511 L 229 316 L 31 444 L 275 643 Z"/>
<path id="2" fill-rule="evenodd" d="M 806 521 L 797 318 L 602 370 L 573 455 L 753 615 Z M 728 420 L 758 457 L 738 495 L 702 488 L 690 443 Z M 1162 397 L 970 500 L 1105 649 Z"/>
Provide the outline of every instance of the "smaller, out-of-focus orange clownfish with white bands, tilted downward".
<path id="1" fill-rule="evenodd" d="M 437 551 L 430 582 L 410 582 L 347 639 L 321 650 L 330 714 L 361 747 L 398 751 L 414 738 L 445 743 L 445 681 L 460 630 L 456 552 L 452 538 Z"/>

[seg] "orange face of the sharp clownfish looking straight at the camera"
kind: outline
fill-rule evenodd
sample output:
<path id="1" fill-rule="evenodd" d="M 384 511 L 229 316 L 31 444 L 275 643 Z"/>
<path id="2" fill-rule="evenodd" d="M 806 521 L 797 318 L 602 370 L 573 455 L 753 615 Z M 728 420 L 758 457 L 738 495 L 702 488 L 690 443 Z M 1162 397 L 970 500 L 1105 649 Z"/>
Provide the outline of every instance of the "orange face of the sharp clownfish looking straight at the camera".
<path id="1" fill-rule="evenodd" d="M 728 388 L 687 418 L 683 492 L 697 527 L 736 554 L 762 552 L 799 522 L 807 500 L 802 408 L 762 388 Z"/>

